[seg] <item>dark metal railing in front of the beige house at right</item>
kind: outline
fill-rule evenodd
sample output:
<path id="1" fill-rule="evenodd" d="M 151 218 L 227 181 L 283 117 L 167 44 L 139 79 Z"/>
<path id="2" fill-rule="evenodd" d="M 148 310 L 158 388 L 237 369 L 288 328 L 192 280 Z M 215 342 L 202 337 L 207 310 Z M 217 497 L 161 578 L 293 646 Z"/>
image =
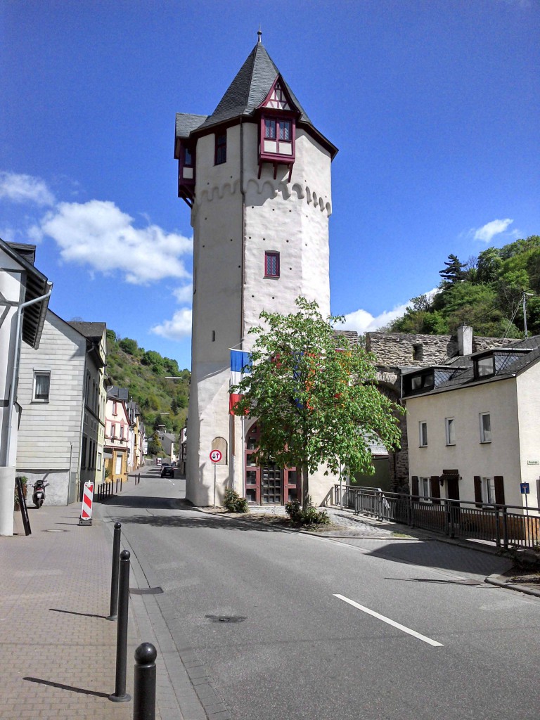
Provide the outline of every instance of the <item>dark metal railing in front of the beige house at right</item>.
<path id="1" fill-rule="evenodd" d="M 340 485 L 334 485 L 325 504 L 341 503 L 357 515 L 361 513 L 380 521 L 403 523 L 452 538 L 484 540 L 503 548 L 540 545 L 540 508 L 420 498 L 400 492 L 382 492 L 374 487 L 343 485 L 340 488 Z"/>

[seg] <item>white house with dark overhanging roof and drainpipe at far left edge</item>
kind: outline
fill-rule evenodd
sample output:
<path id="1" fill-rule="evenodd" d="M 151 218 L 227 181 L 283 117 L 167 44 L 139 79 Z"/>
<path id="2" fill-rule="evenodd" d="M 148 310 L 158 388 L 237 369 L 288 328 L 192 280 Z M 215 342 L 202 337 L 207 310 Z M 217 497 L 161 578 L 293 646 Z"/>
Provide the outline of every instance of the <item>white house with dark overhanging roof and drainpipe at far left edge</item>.
<path id="1" fill-rule="evenodd" d="M 0 240 L 0 535 L 13 534 L 19 356 L 39 348 L 53 289 L 34 261 L 35 246 Z"/>

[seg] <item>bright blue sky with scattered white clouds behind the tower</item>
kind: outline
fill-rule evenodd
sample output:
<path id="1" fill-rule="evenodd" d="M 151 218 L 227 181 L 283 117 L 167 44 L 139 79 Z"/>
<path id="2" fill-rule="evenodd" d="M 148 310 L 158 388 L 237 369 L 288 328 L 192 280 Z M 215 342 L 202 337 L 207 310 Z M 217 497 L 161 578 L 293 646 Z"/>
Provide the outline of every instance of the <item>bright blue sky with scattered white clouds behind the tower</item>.
<path id="1" fill-rule="evenodd" d="M 339 148 L 330 288 L 346 327 L 395 317 L 449 253 L 540 233 L 539 0 L 4 0 L 0 237 L 37 244 L 60 317 L 190 366 L 175 112 L 215 109 L 259 23 Z"/>

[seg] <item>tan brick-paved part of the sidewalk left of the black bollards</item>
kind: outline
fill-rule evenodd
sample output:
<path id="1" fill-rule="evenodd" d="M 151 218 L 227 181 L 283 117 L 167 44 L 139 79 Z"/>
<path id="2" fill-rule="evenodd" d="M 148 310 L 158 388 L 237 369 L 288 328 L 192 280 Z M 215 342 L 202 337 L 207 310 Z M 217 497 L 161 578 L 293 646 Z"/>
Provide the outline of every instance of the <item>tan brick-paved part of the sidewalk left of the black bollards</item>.
<path id="1" fill-rule="evenodd" d="M 113 703 L 117 624 L 108 621 L 112 542 L 95 522 L 78 526 L 80 504 L 29 508 L 0 538 L 0 690 L 3 720 L 128 720 Z M 127 693 L 140 639 L 128 626 Z"/>

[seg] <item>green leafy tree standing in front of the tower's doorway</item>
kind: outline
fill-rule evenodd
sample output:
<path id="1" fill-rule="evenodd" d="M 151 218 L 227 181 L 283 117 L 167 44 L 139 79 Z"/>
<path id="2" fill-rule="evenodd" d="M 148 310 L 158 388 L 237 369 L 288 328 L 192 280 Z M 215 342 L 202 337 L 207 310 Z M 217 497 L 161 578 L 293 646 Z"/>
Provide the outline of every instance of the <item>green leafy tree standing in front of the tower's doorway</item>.
<path id="1" fill-rule="evenodd" d="M 370 442 L 399 446 L 395 418 L 401 408 L 377 390 L 372 356 L 325 319 L 316 302 L 299 297 L 298 312 L 261 312 L 264 325 L 250 330 L 256 340 L 251 374 L 231 392 L 244 395 L 236 415 L 258 418 L 261 427 L 256 462 L 296 467 L 302 479 L 302 505 L 308 504 L 308 475 L 320 465 L 337 474 L 372 474 Z"/>

